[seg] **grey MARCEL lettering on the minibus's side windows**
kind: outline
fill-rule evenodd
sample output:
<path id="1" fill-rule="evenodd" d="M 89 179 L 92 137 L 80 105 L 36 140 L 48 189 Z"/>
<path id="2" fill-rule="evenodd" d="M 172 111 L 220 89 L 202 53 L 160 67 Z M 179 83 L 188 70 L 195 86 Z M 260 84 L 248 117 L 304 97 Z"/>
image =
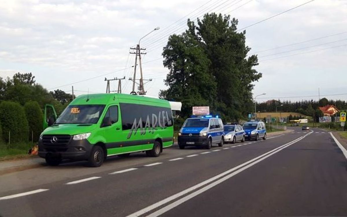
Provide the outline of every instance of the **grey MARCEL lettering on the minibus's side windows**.
<path id="1" fill-rule="evenodd" d="M 150 115 L 147 115 L 146 118 L 146 123 L 145 125 L 142 124 L 142 117 L 140 117 L 140 119 L 137 122 L 137 119 L 134 119 L 133 122 L 133 126 L 130 129 L 130 132 L 127 136 L 127 139 L 129 139 L 133 132 L 134 135 L 136 135 L 137 130 L 140 129 L 140 134 L 144 135 L 146 134 L 146 131 L 148 129 L 149 133 L 154 133 L 155 130 L 157 130 L 156 126 L 157 124 L 159 125 L 160 129 L 165 129 L 166 125 L 171 125 L 172 124 L 172 120 L 169 119 L 169 115 L 166 111 L 160 111 L 158 116 L 156 114 L 152 114 L 152 119 L 150 119 Z"/>

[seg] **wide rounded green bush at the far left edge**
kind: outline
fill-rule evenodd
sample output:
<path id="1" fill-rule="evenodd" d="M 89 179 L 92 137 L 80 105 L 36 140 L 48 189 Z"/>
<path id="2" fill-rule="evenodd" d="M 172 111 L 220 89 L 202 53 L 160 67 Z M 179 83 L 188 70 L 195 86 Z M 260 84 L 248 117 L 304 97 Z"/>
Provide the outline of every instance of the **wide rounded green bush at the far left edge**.
<path id="1" fill-rule="evenodd" d="M 0 104 L 0 122 L 2 138 L 5 142 L 8 142 L 9 131 L 11 133 L 11 144 L 12 142 L 28 141 L 28 121 L 26 120 L 24 108 L 19 103 L 3 101 Z"/>

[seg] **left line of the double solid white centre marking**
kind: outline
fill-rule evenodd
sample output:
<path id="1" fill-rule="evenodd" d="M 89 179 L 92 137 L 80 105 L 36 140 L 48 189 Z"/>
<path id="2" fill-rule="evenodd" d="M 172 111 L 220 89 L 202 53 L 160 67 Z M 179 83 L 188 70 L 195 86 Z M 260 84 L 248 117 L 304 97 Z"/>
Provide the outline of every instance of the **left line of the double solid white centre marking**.
<path id="1" fill-rule="evenodd" d="M 307 134 L 307 135 L 308 135 L 308 134 Z M 291 141 L 291 142 L 289 142 L 289 143 L 286 143 L 286 144 L 284 144 L 284 145 L 281 145 L 280 147 L 277 147 L 277 148 L 275 148 L 275 149 L 272 149 L 272 150 L 270 150 L 270 151 L 268 151 L 268 152 L 266 152 L 266 153 L 264 153 L 264 154 L 262 154 L 262 155 L 259 155 L 258 157 L 255 157 L 255 158 L 253 158 L 253 159 L 251 159 L 251 160 L 249 160 L 249 161 L 247 161 L 247 162 L 244 162 L 244 163 L 242 163 L 242 164 L 240 164 L 240 165 L 238 165 L 238 166 L 236 166 L 236 167 L 234 167 L 234 168 L 231 168 L 231 169 L 229 169 L 229 170 L 227 170 L 227 171 L 225 171 L 225 172 L 222 172 L 222 173 L 218 174 L 217 176 L 214 176 L 214 177 L 212 177 L 212 178 L 210 178 L 210 179 L 208 179 L 208 180 L 205 180 L 205 181 L 203 181 L 203 182 L 198 183 L 198 184 L 195 185 L 195 186 L 192 186 L 192 187 L 187 188 L 187 189 L 185 189 L 185 190 L 183 190 L 183 191 L 180 191 L 180 192 L 178 192 L 177 194 L 174 194 L 174 195 L 172 195 L 172 196 L 170 196 L 170 197 L 168 197 L 168 198 L 166 198 L 166 199 L 163 199 L 163 200 L 161 200 L 161 201 L 156 202 L 155 204 L 152 204 L 152 205 L 150 205 L 150 206 L 147 206 L 147 207 L 145 207 L 145 208 L 143 208 L 143 209 L 141 209 L 141 210 L 139 210 L 139 211 L 137 211 L 137 212 L 135 212 L 135 213 L 133 213 L 133 214 L 128 215 L 127 217 L 137 217 L 137 216 L 141 216 L 141 215 L 143 215 L 143 214 L 145 214 L 145 213 L 147 213 L 147 212 L 149 212 L 149 211 L 151 211 L 151 210 L 153 210 L 153 209 L 156 209 L 156 208 L 158 208 L 158 207 L 160 207 L 160 206 L 162 206 L 162 205 L 164 205 L 164 204 L 166 204 L 166 203 L 168 203 L 168 202 L 170 202 L 170 201 L 172 201 L 172 200 L 175 200 L 175 199 L 178 198 L 178 197 L 181 197 L 181 196 L 183 196 L 183 195 L 185 195 L 185 194 L 187 194 L 187 193 L 189 193 L 189 192 L 191 192 L 191 191 L 194 191 L 194 190 L 197 189 L 197 188 L 200 188 L 200 187 L 202 187 L 202 186 L 204 186 L 204 185 L 206 185 L 206 184 L 208 184 L 208 183 L 210 183 L 210 182 L 212 182 L 212 181 L 214 181 L 214 180 L 217 180 L 217 179 L 219 179 L 219 178 L 225 176 L 226 174 L 229 174 L 230 172 L 233 172 L 233 171 L 235 171 L 235 170 L 237 170 L 237 169 L 239 169 L 239 168 L 242 168 L 242 167 L 244 167 L 245 165 L 247 165 L 247 164 L 249 164 L 249 163 L 251 163 L 251 162 L 253 162 L 253 161 L 256 161 L 256 160 L 258 160 L 258 159 L 261 159 L 262 157 L 264 157 L 264 156 L 266 156 L 266 155 L 268 155 L 268 154 L 270 154 L 270 153 L 272 153 L 272 152 L 274 152 L 274 151 L 276 151 L 276 150 L 279 150 L 280 148 L 285 147 L 286 145 L 288 145 L 288 144 L 290 144 L 290 143 L 292 143 L 292 142 L 299 141 L 300 139 L 302 139 L 302 138 L 304 138 L 304 137 L 305 137 L 305 136 L 301 136 L 301 137 L 299 137 L 299 138 L 297 138 L 297 139 L 295 139 L 295 140 L 293 140 L 293 141 Z"/>

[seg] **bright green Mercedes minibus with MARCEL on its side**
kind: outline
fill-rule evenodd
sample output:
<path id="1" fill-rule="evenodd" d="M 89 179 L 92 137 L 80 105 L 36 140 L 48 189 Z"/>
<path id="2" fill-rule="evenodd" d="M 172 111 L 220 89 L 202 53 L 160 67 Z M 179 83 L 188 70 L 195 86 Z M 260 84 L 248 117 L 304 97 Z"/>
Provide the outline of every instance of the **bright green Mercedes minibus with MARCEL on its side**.
<path id="1" fill-rule="evenodd" d="M 174 143 L 170 103 L 158 98 L 81 95 L 56 120 L 45 121 L 49 126 L 40 135 L 39 156 L 51 166 L 71 159 L 99 167 L 109 156 L 139 151 L 158 157 Z"/>

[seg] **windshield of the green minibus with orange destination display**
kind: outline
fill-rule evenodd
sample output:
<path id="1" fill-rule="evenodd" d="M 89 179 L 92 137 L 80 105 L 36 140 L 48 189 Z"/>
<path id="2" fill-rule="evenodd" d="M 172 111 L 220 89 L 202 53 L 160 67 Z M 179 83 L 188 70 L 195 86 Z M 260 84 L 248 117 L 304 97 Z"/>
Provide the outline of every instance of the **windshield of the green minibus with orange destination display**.
<path id="1" fill-rule="evenodd" d="M 96 124 L 105 105 L 69 105 L 56 124 Z"/>

